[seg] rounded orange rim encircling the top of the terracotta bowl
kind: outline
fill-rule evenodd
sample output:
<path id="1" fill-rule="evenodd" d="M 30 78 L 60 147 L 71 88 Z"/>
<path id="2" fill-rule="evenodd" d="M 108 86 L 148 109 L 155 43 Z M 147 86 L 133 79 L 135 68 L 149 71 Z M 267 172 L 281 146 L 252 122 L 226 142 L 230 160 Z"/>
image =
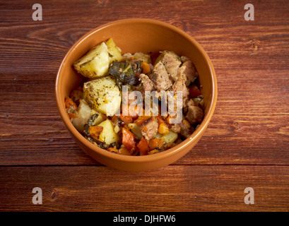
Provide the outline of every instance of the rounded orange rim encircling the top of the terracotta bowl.
<path id="1" fill-rule="evenodd" d="M 201 52 L 201 54 L 206 59 L 206 65 L 208 66 L 208 69 L 210 71 L 210 78 L 211 78 L 211 89 L 213 92 L 211 93 L 211 102 L 208 106 L 207 114 L 205 115 L 203 121 L 199 125 L 199 127 L 192 133 L 189 138 L 182 141 L 182 143 L 179 143 L 173 148 L 167 149 L 160 153 L 155 153 L 154 155 L 141 155 L 141 156 L 132 156 L 132 155 L 117 155 L 115 153 L 110 153 L 109 151 L 104 151 L 102 148 L 99 148 L 97 145 L 94 145 L 93 143 L 90 143 L 87 139 L 85 139 L 81 133 L 77 131 L 77 129 L 73 126 L 71 121 L 69 120 L 68 115 L 66 114 L 66 111 L 64 109 L 63 103 L 61 103 L 63 100 L 60 99 L 59 90 L 60 90 L 60 84 L 61 84 L 61 70 L 64 67 L 64 64 L 66 62 L 66 59 L 71 55 L 71 53 L 78 47 L 81 42 L 83 42 L 86 38 L 88 38 L 90 35 L 93 35 L 95 32 L 98 32 L 99 30 L 105 29 L 110 26 L 118 25 L 119 23 L 150 23 L 154 25 L 160 25 L 163 27 L 166 27 L 170 30 L 173 30 L 174 32 L 179 33 L 180 35 L 184 36 L 189 42 L 192 42 L 196 49 Z M 89 32 L 86 32 L 85 35 L 81 36 L 70 48 L 69 51 L 66 53 L 64 59 L 61 61 L 61 64 L 59 66 L 59 70 L 57 72 L 57 78 L 55 81 L 55 97 L 57 101 L 57 108 L 60 114 L 60 117 L 62 121 L 64 121 L 64 124 L 66 128 L 69 130 L 72 135 L 78 139 L 79 142 L 81 142 L 82 145 L 86 146 L 90 150 L 93 150 L 93 152 L 96 152 L 100 155 L 103 155 L 105 157 L 112 158 L 114 160 L 120 160 L 124 162 L 153 162 L 157 161 L 166 157 L 170 157 L 172 155 L 175 155 L 175 153 L 178 153 L 180 150 L 183 150 L 187 146 L 189 146 L 191 143 L 193 143 L 199 136 L 201 136 L 202 133 L 206 130 L 206 127 L 208 126 L 209 121 L 211 120 L 211 117 L 213 116 L 213 112 L 216 107 L 216 101 L 217 101 L 217 80 L 216 80 L 216 73 L 213 68 L 213 64 L 211 63 L 211 59 L 208 57 L 208 54 L 206 51 L 201 47 L 201 45 L 194 40 L 193 37 L 191 37 L 187 32 L 184 32 L 184 30 L 181 30 L 174 25 L 171 25 L 169 23 L 165 23 L 160 20 L 154 20 L 154 19 L 148 19 L 148 18 L 128 18 L 128 19 L 122 19 L 122 20 L 114 20 L 109 23 L 105 23 L 103 25 L 98 26 L 97 28 L 94 28 L 93 30 L 90 30 Z M 188 150 L 189 152 L 189 150 Z M 97 160 L 98 161 L 98 160 Z"/>

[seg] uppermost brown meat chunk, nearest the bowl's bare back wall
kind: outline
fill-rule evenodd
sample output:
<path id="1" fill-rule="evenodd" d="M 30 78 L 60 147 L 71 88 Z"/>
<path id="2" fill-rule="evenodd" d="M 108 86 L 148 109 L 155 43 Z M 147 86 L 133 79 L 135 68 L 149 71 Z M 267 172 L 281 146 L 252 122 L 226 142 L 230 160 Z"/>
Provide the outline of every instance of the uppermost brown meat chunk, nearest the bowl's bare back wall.
<path id="1" fill-rule="evenodd" d="M 172 78 L 173 81 L 177 81 L 177 71 L 182 64 L 177 54 L 172 51 L 164 51 L 160 54 L 159 59 L 165 65 L 165 69 L 167 69 L 170 78 Z"/>

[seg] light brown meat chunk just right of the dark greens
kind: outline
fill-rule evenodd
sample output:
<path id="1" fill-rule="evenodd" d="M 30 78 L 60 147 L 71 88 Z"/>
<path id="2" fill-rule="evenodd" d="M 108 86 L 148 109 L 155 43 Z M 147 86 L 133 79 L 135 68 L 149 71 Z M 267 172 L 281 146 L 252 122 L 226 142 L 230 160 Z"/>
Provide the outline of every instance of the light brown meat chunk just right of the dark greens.
<path id="1" fill-rule="evenodd" d="M 150 75 L 151 81 L 153 81 L 155 90 L 165 91 L 172 86 L 172 81 L 170 81 L 169 75 L 165 70 L 165 65 L 159 61 L 155 64 L 153 73 Z"/>

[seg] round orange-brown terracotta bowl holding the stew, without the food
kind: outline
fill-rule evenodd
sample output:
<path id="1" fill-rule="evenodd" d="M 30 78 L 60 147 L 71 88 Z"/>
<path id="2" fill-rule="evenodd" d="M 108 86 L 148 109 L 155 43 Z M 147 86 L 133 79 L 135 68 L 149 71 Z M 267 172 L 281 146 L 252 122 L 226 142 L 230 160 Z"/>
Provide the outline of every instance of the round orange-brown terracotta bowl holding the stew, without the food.
<path id="1" fill-rule="evenodd" d="M 201 92 L 205 101 L 205 116 L 201 125 L 189 138 L 176 145 L 174 148 L 161 153 L 145 156 L 127 156 L 110 153 L 98 148 L 87 141 L 66 114 L 64 98 L 71 90 L 77 88 L 83 77 L 73 69 L 73 62 L 82 57 L 88 50 L 100 42 L 113 38 L 117 46 L 126 52 L 158 52 L 173 50 L 180 56 L 186 56 L 193 61 L 199 72 L 199 81 L 202 85 Z M 129 171 L 143 171 L 164 167 L 175 162 L 191 150 L 199 141 L 213 115 L 217 99 L 216 75 L 208 55 L 202 47 L 186 32 L 173 25 L 151 19 L 125 19 L 107 23 L 88 32 L 78 40 L 64 57 L 57 74 L 56 80 L 57 107 L 65 126 L 71 133 L 79 147 L 90 157 L 112 167 Z"/>

